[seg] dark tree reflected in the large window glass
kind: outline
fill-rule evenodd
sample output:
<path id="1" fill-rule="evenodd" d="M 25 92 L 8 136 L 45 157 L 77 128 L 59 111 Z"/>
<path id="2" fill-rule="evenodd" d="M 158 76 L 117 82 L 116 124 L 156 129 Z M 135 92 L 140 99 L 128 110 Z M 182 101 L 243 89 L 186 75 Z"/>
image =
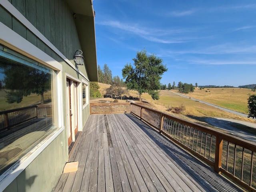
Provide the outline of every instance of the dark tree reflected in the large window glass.
<path id="1" fill-rule="evenodd" d="M 4 58 L 0 60 L 0 68 L 4 74 L 4 88 L 10 90 L 6 95 L 8 103 L 20 103 L 23 96 L 35 93 L 41 95 L 41 104 L 44 104 L 44 92 L 51 89 L 48 72 Z"/>

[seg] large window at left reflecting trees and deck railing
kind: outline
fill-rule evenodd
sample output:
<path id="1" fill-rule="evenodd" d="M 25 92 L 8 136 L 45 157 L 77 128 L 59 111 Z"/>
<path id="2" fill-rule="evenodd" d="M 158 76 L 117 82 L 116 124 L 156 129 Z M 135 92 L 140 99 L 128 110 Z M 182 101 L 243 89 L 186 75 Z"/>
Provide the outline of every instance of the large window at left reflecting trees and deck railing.
<path id="1" fill-rule="evenodd" d="M 0 173 L 57 127 L 55 76 L 0 45 Z"/>

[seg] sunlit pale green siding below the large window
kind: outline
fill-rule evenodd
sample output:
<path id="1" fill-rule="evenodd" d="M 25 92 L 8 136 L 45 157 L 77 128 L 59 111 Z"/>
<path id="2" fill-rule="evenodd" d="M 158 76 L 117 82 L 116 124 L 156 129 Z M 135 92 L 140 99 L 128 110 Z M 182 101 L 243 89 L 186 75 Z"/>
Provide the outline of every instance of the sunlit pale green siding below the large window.
<path id="1" fill-rule="evenodd" d="M 4 192 L 52 191 L 68 158 L 68 148 L 64 147 L 66 140 L 62 132 Z"/>

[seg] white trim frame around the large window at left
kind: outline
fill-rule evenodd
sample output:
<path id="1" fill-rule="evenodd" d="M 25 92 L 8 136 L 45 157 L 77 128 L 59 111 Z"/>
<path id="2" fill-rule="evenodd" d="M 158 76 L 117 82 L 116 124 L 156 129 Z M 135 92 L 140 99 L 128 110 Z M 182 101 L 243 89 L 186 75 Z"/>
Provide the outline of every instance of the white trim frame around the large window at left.
<path id="1" fill-rule="evenodd" d="M 2 4 L 2 1 L 1 1 Z M 64 130 L 63 98 L 62 98 L 62 65 L 44 53 L 42 50 L 22 38 L 16 32 L 0 22 L 0 43 L 16 52 L 34 59 L 46 66 L 57 70 L 57 109 L 59 128 L 48 135 L 42 142 L 34 147 L 28 154 L 0 175 L 0 191 L 4 190 L 26 167 Z M 6 35 L 8 34 L 8 35 Z"/>

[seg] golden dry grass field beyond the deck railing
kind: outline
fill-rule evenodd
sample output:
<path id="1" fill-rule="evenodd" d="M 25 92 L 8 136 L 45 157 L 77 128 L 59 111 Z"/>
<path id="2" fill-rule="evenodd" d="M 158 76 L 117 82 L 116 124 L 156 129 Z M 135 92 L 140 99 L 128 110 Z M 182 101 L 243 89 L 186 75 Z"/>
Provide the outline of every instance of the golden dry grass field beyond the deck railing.
<path id="1" fill-rule="evenodd" d="M 104 90 L 108 88 L 110 85 L 99 83 L 100 92 L 104 93 Z M 207 92 L 206 92 L 207 90 Z M 172 90 L 173 91 L 173 90 Z M 178 116 L 180 118 L 190 120 L 197 123 L 204 122 L 205 118 L 208 117 L 222 117 L 222 118 L 230 118 L 248 122 L 255 122 L 252 119 L 245 118 L 242 116 L 238 116 L 218 108 L 196 102 L 189 98 L 184 98 L 174 94 L 169 90 L 161 90 L 160 91 L 160 99 L 153 100 L 150 95 L 142 94 L 142 104 L 147 105 L 150 108 L 154 108 L 159 111 L 163 111 L 174 116 Z M 174 90 L 177 91 L 178 90 Z M 199 90 L 199 88 L 195 89 L 194 93 L 186 94 L 186 96 L 190 96 L 192 98 L 196 98 L 198 100 L 203 100 L 218 106 L 222 106 L 224 108 L 229 108 L 231 110 L 235 110 L 238 112 L 246 113 L 247 110 L 247 98 L 248 94 L 253 94 L 249 89 L 240 89 L 240 88 L 209 88 Z M 127 96 L 137 97 L 138 92 L 129 91 Z M 105 102 L 108 100 L 110 102 L 114 101 L 111 98 L 100 98 L 91 100 L 91 102 Z M 119 100 L 121 102 L 121 100 Z M 168 108 L 185 106 L 185 110 L 182 111 L 181 114 L 176 114 L 172 112 L 168 112 Z M 241 108 L 243 110 L 238 110 Z M 203 123 L 204 124 L 204 123 Z"/>

